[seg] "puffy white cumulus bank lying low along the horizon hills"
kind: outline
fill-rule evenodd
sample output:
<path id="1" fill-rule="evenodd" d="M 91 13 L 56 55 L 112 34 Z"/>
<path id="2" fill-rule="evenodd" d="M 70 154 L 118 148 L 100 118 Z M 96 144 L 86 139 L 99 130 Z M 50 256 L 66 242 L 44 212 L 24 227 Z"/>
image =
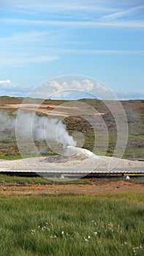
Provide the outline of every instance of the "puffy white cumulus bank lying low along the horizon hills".
<path id="1" fill-rule="evenodd" d="M 41 99 L 144 99 L 144 94 L 138 91 L 117 91 L 113 92 L 101 82 L 88 78 L 74 79 L 71 82 L 63 80 L 49 80 L 46 83 L 32 88 L 32 86 L 20 86 L 12 83 L 11 80 L 0 80 L 0 96 L 11 97 L 35 97 Z"/>

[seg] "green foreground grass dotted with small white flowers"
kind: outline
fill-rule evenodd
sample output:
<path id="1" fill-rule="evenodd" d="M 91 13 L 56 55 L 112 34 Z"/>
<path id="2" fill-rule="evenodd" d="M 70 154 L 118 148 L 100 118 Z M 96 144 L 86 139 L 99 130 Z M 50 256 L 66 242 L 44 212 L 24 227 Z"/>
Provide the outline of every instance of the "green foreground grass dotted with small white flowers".
<path id="1" fill-rule="evenodd" d="M 143 193 L 0 197 L 0 255 L 144 255 Z"/>

